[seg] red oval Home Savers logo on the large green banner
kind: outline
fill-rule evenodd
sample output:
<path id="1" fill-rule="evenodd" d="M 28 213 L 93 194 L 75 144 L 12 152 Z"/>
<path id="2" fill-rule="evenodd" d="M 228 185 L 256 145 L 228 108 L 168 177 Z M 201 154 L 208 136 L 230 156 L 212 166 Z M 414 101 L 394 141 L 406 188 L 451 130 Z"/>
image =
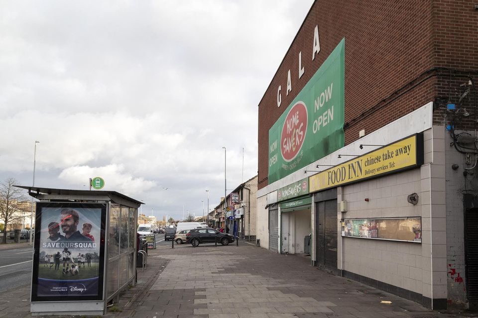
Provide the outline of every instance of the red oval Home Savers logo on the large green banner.
<path id="1" fill-rule="evenodd" d="M 280 152 L 285 161 L 292 161 L 299 154 L 307 132 L 307 107 L 297 102 L 289 110 L 282 126 Z"/>

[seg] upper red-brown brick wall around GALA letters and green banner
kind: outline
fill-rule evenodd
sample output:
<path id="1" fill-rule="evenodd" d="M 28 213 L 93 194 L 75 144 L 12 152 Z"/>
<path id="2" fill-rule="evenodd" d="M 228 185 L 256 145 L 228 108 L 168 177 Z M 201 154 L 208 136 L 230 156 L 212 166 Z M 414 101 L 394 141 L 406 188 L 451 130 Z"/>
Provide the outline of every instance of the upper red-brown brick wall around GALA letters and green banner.
<path id="1" fill-rule="evenodd" d="M 450 83 L 454 81 L 453 89 L 460 87 L 464 74 L 476 78 L 477 19 L 474 3 L 465 0 L 316 1 L 259 103 L 258 188 L 268 184 L 269 128 L 343 37 L 345 141 L 349 144 L 359 138 L 361 129 L 370 133 L 437 97 L 447 97 Z M 312 60 L 316 25 L 321 51 Z M 305 73 L 299 79 L 300 51 Z M 462 72 L 452 80 L 443 76 L 443 70 L 426 73 L 437 67 Z M 292 91 L 286 95 L 289 69 Z M 279 85 L 282 102 L 277 107 Z M 463 105 L 467 102 L 468 107 L 474 104 L 466 100 Z M 444 121 L 441 114 L 434 119 Z M 476 122 L 464 123 L 474 126 Z"/>

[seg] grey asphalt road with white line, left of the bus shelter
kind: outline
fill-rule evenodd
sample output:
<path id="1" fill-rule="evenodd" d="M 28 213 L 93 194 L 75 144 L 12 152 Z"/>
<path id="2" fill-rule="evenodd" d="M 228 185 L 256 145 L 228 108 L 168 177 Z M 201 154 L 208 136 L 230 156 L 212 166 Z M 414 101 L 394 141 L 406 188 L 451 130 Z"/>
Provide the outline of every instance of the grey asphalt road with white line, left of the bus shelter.
<path id="1" fill-rule="evenodd" d="M 0 250 L 0 292 L 31 282 L 33 248 Z"/>

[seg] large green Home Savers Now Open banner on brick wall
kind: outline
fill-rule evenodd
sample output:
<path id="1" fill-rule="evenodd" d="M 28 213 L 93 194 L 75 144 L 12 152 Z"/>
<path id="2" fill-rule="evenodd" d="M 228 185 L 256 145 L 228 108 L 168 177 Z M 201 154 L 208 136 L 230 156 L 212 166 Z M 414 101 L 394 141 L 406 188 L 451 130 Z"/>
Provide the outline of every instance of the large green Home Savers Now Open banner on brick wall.
<path id="1" fill-rule="evenodd" d="M 345 39 L 269 129 L 269 183 L 344 147 Z"/>

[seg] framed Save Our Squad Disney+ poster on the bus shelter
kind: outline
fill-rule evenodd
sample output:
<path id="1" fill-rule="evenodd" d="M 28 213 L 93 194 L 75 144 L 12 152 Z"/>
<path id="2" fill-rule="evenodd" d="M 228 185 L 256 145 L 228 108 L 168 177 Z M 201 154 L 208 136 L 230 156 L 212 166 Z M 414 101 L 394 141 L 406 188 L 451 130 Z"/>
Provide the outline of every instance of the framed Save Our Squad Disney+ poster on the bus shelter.
<path id="1" fill-rule="evenodd" d="M 105 217 L 106 204 L 37 204 L 32 300 L 101 299 Z"/>

